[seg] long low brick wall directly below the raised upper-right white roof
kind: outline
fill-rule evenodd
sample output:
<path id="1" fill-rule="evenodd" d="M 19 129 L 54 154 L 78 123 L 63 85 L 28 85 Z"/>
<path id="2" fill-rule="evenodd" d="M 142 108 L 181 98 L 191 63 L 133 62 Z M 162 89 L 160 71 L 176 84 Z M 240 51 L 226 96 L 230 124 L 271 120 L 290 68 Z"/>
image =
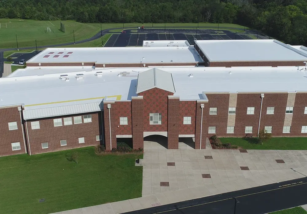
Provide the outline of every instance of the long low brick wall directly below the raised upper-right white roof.
<path id="1" fill-rule="evenodd" d="M 228 61 L 209 62 L 210 67 L 235 67 L 235 66 L 304 66 L 304 61 Z"/>

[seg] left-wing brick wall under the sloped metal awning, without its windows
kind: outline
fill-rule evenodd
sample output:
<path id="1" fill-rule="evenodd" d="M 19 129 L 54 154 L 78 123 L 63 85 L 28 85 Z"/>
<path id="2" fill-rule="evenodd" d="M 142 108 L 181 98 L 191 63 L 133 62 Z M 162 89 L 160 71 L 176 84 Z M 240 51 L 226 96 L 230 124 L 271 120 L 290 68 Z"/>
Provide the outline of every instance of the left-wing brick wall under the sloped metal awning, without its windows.
<path id="1" fill-rule="evenodd" d="M 38 153 L 54 152 L 59 150 L 99 145 L 100 142 L 96 141 L 96 135 L 102 135 L 99 132 L 101 113 L 89 114 L 91 114 L 92 118 L 92 122 L 89 123 L 84 123 L 83 115 L 85 114 L 65 115 L 61 117 L 27 120 L 26 124 L 29 133 L 31 154 L 33 155 Z M 74 124 L 73 116 L 82 116 L 82 123 Z M 72 125 L 64 125 L 63 118 L 65 117 L 72 117 Z M 62 126 L 54 127 L 53 119 L 56 118 L 62 119 Z M 31 121 L 39 121 L 40 129 L 32 130 Z M 82 137 L 84 137 L 84 143 L 79 143 L 78 138 Z M 60 140 L 66 140 L 67 146 L 61 146 Z M 48 142 L 47 149 L 42 149 L 41 143 L 44 142 Z"/>

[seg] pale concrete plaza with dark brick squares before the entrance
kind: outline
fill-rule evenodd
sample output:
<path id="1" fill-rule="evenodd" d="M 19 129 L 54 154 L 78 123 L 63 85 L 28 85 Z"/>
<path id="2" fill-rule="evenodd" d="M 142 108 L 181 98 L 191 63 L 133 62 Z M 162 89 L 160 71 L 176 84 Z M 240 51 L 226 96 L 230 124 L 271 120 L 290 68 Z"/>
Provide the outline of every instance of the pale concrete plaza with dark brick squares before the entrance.
<path id="1" fill-rule="evenodd" d="M 179 147 L 144 142 L 142 197 L 56 214 L 116 214 L 307 176 L 306 150 Z"/>

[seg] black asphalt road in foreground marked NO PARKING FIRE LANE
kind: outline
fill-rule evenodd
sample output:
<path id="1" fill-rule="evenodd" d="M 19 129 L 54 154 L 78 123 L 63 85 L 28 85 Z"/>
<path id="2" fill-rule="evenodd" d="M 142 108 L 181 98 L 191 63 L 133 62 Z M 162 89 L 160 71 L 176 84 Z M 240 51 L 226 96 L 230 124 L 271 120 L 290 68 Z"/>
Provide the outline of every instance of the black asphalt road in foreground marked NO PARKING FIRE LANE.
<path id="1" fill-rule="evenodd" d="M 307 204 L 307 178 L 163 205 L 126 214 L 262 214 Z"/>

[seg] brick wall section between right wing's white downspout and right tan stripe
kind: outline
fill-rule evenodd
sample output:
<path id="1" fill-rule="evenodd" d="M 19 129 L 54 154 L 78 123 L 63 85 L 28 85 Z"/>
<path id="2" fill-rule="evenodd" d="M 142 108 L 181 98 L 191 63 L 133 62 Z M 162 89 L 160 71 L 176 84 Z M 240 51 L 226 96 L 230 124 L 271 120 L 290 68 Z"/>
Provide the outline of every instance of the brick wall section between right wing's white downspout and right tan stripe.
<path id="1" fill-rule="evenodd" d="M 264 129 L 265 126 L 272 126 L 273 136 L 287 136 L 286 133 L 282 133 L 285 120 L 287 99 L 288 93 L 264 94 L 264 98 L 262 101 L 260 130 Z M 267 107 L 274 107 L 274 114 L 266 114 Z"/>

